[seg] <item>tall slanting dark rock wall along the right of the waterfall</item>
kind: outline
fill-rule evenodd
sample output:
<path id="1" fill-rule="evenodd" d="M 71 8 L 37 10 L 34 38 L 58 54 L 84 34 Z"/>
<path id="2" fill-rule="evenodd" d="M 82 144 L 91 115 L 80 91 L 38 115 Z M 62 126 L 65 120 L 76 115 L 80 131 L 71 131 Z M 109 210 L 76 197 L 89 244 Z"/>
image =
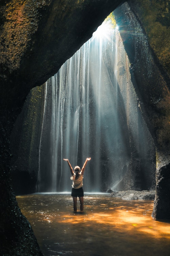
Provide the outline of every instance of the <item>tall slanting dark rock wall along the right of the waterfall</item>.
<path id="1" fill-rule="evenodd" d="M 163 66 L 162 59 L 160 58 L 161 54 L 153 53 L 151 45 L 149 45 L 150 51 L 148 51 L 146 46 L 149 40 L 147 35 L 146 37 L 141 37 L 141 30 L 138 25 L 138 18 L 141 13 L 135 7 L 132 1 L 129 4 L 122 4 L 120 8 L 115 10 L 115 17 L 118 26 L 120 26 L 120 34 L 126 53 L 130 59 L 131 78 L 139 98 L 139 106 L 156 145 L 156 197 L 153 216 L 155 218 L 169 218 L 169 74 Z M 132 11 L 133 9 L 135 11 Z M 157 11 L 159 12 L 159 10 Z M 142 18 L 140 23 L 142 24 Z M 160 196 L 162 197 L 163 194 L 164 198 L 160 199 Z"/>

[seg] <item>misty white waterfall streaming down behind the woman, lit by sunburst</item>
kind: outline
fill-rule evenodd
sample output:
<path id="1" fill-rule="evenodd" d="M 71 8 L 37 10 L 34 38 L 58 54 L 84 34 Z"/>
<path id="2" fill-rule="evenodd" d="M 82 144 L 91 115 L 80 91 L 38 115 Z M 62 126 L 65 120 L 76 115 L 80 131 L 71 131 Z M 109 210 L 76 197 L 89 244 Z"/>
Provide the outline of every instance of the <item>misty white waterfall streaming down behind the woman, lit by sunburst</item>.
<path id="1" fill-rule="evenodd" d="M 129 116 L 135 113 L 137 127 L 140 115 L 136 94 L 132 109 L 131 99 L 126 99 L 127 86 L 133 88 L 129 77 L 118 28 L 106 21 L 48 80 L 50 103 L 44 118 L 49 123 L 44 133 L 49 134 L 41 156 L 44 181 L 39 178 L 39 191 L 70 191 L 71 174 L 63 158 L 73 168 L 82 168 L 86 157 L 91 161 L 84 173 L 84 190 L 117 188 L 131 161 L 129 132 L 134 123 Z M 131 136 L 136 136 L 133 131 Z"/>

